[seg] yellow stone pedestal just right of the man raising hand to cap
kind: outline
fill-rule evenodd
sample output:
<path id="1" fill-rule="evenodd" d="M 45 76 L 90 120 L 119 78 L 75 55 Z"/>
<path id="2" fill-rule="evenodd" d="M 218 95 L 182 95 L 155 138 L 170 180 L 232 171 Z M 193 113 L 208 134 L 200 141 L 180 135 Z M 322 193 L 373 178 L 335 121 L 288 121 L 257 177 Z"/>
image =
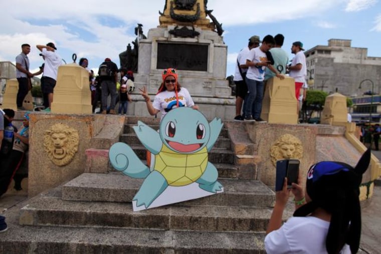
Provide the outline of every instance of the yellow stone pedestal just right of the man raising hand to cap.
<path id="1" fill-rule="evenodd" d="M 65 114 L 92 113 L 88 71 L 77 64 L 58 68 L 51 110 Z"/>

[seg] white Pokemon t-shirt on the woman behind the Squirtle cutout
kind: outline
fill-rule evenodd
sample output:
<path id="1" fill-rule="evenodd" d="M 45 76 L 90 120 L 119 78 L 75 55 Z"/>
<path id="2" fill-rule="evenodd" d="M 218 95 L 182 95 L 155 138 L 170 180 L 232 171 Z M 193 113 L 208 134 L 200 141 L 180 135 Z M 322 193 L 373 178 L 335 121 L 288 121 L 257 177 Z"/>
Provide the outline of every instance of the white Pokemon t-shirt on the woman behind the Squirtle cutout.
<path id="1" fill-rule="evenodd" d="M 193 107 L 195 103 L 190 97 L 190 94 L 186 88 L 181 87 L 181 90 L 178 91 L 178 106 L 179 107 Z M 169 112 L 172 108 L 177 107 L 176 93 L 174 91 L 164 91 L 158 93 L 153 100 L 152 106 L 154 109 L 160 110 L 161 119 L 163 116 Z"/>

